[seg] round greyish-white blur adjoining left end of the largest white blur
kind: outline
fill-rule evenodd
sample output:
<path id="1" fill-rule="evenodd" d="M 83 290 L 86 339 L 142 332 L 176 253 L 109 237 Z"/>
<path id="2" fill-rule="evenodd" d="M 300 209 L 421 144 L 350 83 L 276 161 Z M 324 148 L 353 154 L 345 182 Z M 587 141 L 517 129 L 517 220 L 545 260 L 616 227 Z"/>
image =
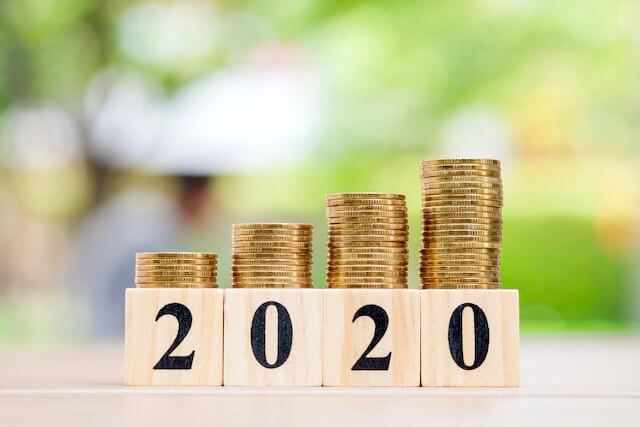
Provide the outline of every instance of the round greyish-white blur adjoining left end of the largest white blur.
<path id="1" fill-rule="evenodd" d="M 157 143 L 163 102 L 142 77 L 115 70 L 98 74 L 85 98 L 91 154 L 115 167 L 138 167 Z"/>

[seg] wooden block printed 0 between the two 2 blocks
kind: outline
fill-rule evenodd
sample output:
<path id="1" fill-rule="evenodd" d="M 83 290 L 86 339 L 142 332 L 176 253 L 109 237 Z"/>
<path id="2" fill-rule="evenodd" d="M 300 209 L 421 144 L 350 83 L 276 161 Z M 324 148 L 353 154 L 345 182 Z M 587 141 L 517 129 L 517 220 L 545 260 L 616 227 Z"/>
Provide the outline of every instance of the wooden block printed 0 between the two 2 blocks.
<path id="1" fill-rule="evenodd" d="M 322 385 L 322 292 L 227 289 L 224 385 Z"/>

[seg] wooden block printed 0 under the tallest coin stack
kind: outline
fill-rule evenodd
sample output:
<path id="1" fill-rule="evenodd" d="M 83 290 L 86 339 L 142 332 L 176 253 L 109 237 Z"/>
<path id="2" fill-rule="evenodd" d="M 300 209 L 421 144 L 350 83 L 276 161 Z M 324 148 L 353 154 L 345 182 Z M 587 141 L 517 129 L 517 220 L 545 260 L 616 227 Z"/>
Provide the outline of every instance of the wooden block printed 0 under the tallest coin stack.
<path id="1" fill-rule="evenodd" d="M 421 292 L 423 386 L 520 384 L 518 291 Z"/>

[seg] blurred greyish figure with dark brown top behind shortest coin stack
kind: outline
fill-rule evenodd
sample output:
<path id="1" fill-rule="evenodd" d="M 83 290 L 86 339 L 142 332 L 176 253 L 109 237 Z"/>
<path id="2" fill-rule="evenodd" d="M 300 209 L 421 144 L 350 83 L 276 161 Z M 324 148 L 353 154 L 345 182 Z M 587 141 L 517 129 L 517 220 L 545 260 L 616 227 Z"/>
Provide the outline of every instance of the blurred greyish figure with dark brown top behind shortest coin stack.
<path id="1" fill-rule="evenodd" d="M 87 301 L 83 306 L 89 309 L 93 337 L 122 335 L 124 295 L 134 286 L 135 253 L 187 251 L 184 236 L 207 217 L 209 177 L 185 174 L 171 179 L 177 181 L 175 195 L 156 186 L 133 185 L 98 202 L 79 230 L 71 277 L 74 290 L 81 290 Z"/>

